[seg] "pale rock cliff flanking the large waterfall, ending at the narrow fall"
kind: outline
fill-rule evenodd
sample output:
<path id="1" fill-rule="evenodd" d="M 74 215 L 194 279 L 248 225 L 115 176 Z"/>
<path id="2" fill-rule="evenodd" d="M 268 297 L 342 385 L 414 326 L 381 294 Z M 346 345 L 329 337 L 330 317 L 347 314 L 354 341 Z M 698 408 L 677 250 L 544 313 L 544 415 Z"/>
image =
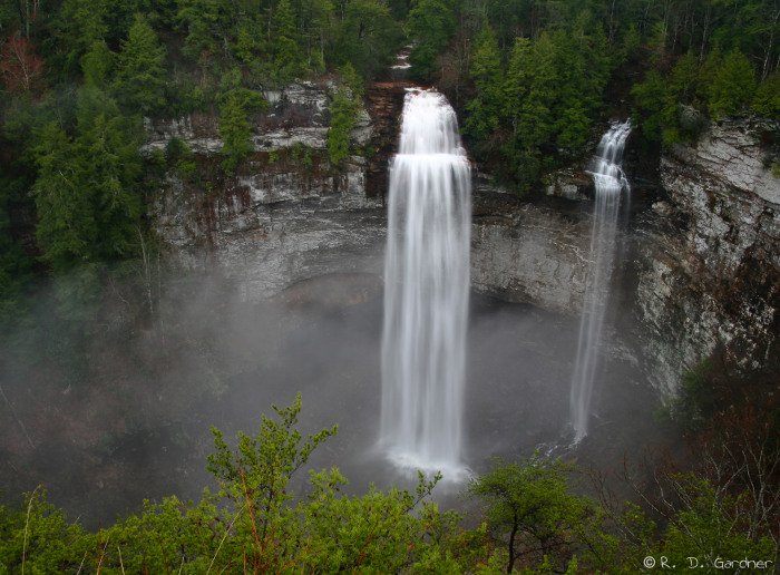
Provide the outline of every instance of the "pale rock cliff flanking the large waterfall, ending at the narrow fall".
<path id="1" fill-rule="evenodd" d="M 170 172 L 154 218 L 176 261 L 217 270 L 248 300 L 338 273 L 381 275 L 388 162 L 396 150 L 403 81 L 373 86 L 353 143 L 369 158 L 340 169 L 326 159 L 326 84 L 295 84 L 266 95 L 255 118 L 255 154 L 228 179 L 202 182 Z M 201 172 L 222 148 L 207 116 L 147 123 L 147 149 L 185 140 Z M 211 173 L 218 170 L 211 169 Z M 478 292 L 564 313 L 582 305 L 589 230 L 582 218 L 520 203 L 478 178 L 472 230 L 472 284 Z"/>

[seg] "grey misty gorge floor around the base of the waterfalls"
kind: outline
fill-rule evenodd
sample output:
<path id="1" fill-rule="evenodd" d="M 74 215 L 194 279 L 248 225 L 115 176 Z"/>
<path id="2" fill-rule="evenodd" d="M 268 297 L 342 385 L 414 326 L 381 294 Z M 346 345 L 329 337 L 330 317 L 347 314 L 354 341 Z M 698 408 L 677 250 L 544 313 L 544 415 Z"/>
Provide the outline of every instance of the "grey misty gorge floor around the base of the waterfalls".
<path id="1" fill-rule="evenodd" d="M 303 431 L 339 423 L 312 467 L 340 467 L 354 493 L 370 483 L 412 486 L 376 449 L 382 329 L 376 285 L 365 277 L 312 280 L 269 305 L 233 301 L 223 286 L 212 290 L 220 304 L 212 292 L 188 292 L 175 321 L 169 316 L 167 339 L 150 329 L 90 341 L 81 350 L 86 382 L 66 387 L 59 363 L 4 369 L 3 499 L 18 501 L 43 484 L 71 519 L 97 526 L 138 509 L 144 498 L 198 497 L 213 484 L 205 471 L 209 426 L 228 438 L 254 432 L 271 403 L 289 405 L 299 391 Z M 655 440 L 655 400 L 607 329 L 611 353 L 595 383 L 592 431 L 576 450 L 568 447 L 577 327 L 577 318 L 471 299 L 465 413 L 471 470 L 485 470 L 493 456 L 514 459 L 535 449 L 610 469 Z M 454 496 L 461 488 L 445 481 L 438 491 L 459 505 Z"/>

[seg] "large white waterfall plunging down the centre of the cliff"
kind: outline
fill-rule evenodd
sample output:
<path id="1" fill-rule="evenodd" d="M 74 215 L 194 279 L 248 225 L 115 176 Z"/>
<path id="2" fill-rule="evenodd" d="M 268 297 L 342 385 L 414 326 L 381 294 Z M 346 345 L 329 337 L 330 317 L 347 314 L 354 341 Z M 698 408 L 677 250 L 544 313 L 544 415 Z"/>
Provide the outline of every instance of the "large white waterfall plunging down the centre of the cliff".
<path id="1" fill-rule="evenodd" d="M 455 110 L 409 90 L 390 166 L 381 441 L 397 465 L 461 470 L 470 169 Z"/>

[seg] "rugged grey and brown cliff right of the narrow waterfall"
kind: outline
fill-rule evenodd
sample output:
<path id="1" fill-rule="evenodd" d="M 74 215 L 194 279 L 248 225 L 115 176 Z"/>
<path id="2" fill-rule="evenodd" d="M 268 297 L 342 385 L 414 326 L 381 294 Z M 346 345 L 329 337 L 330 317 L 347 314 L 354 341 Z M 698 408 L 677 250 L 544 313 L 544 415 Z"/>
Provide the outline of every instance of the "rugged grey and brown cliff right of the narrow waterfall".
<path id="1" fill-rule="evenodd" d="M 780 179 L 766 142 L 779 129 L 723 121 L 662 157 L 669 201 L 653 205 L 637 237 L 636 305 L 649 373 L 664 393 L 718 345 L 750 369 L 776 344 Z"/>

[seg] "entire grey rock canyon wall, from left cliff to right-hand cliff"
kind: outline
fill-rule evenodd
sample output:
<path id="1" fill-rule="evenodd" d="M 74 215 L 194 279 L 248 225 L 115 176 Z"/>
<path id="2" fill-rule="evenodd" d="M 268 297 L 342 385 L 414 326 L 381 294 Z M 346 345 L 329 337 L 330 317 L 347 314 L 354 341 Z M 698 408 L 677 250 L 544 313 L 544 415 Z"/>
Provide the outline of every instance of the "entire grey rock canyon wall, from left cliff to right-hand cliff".
<path id="1" fill-rule="evenodd" d="M 170 170 L 156 194 L 150 215 L 174 261 L 220 271 L 248 301 L 332 274 L 373 277 L 379 294 L 387 167 L 404 85 L 369 90 L 352 134 L 364 156 L 339 167 L 326 154 L 332 89 L 328 81 L 299 82 L 267 94 L 271 109 L 253 123 L 255 152 L 231 178 L 216 168 L 222 143 L 214 118 L 147 123 L 147 150 L 181 138 L 206 174 Z M 618 236 L 612 315 L 633 320 L 637 355 L 663 394 L 675 393 L 682 372 L 718 345 L 745 369 L 774 349 L 780 179 L 767 167 L 767 140 L 777 130 L 757 120 L 713 125 L 698 145 L 663 155 L 660 186 L 649 194 L 661 201 L 651 208 L 632 199 Z M 591 184 L 581 167 L 554 175 L 547 197 L 532 202 L 485 175 L 475 178 L 476 292 L 581 312 L 591 242 Z"/>

